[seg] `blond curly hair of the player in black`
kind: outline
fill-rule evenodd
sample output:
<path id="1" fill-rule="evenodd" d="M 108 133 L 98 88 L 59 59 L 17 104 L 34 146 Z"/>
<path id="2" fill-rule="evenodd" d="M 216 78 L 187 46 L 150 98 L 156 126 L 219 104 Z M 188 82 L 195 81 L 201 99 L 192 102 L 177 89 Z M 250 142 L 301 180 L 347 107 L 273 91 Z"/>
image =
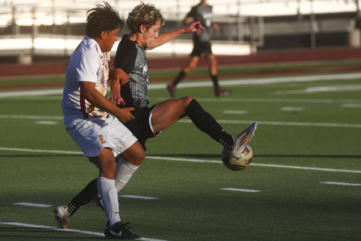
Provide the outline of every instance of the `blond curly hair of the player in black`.
<path id="1" fill-rule="evenodd" d="M 164 22 L 160 10 L 154 4 L 143 3 L 143 1 L 140 1 L 140 4 L 135 6 L 127 18 L 127 26 L 132 33 L 139 32 L 140 25 L 144 25 L 145 29 L 148 30 L 158 23 L 163 26 Z"/>

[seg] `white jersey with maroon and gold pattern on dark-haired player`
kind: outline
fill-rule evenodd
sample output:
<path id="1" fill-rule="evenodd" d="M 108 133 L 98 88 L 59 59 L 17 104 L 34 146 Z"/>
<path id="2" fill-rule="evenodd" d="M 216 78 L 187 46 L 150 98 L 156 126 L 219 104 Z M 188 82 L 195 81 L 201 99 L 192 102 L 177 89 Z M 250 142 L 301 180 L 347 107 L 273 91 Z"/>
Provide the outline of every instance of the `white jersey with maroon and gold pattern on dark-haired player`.
<path id="1" fill-rule="evenodd" d="M 75 49 L 66 65 L 61 103 L 64 120 L 110 117 L 109 113 L 90 104 L 79 86 L 79 81 L 94 82 L 95 89 L 106 97 L 109 59 L 109 52 L 101 52 L 99 44 L 88 36 Z"/>

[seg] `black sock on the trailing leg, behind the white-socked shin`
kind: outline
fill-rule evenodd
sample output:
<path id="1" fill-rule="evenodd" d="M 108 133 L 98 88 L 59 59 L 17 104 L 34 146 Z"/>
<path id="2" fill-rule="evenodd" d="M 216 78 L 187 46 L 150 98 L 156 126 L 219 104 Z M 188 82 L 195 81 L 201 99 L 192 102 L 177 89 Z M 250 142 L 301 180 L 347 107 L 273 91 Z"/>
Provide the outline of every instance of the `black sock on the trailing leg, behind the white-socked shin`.
<path id="1" fill-rule="evenodd" d="M 79 207 L 86 205 L 90 201 L 93 200 L 93 197 L 95 194 L 98 193 L 97 189 L 97 179 L 95 178 L 91 182 L 88 183 L 88 185 L 76 195 L 71 202 L 68 204 L 68 211 L 70 213 L 70 216 L 73 215 Z"/>

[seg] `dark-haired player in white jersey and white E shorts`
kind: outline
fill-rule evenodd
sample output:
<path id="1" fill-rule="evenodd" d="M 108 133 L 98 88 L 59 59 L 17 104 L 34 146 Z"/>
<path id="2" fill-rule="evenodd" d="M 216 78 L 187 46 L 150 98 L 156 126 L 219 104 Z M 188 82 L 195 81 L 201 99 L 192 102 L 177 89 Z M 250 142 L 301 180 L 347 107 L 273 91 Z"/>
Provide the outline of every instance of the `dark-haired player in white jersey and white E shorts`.
<path id="1" fill-rule="evenodd" d="M 119 76 L 126 76 L 121 69 L 108 69 L 109 51 L 117 41 L 117 33 L 124 23 L 118 11 L 106 2 L 104 5 L 96 4 L 88 13 L 87 36 L 75 49 L 66 66 L 62 100 L 64 124 L 84 156 L 99 169 L 97 190 L 106 214 L 105 236 L 140 238 L 131 233 L 127 229 L 128 223 L 123 224 L 119 217 L 114 180 L 117 169 L 115 156 L 121 154 L 125 158 L 121 165 L 127 175 L 131 175 L 145 157 L 137 138 L 122 124 L 134 119 L 130 113 L 134 108 L 121 109 L 106 99 L 108 79 L 115 77 L 119 81 Z M 59 228 L 68 225 L 71 208 L 55 208 Z"/>

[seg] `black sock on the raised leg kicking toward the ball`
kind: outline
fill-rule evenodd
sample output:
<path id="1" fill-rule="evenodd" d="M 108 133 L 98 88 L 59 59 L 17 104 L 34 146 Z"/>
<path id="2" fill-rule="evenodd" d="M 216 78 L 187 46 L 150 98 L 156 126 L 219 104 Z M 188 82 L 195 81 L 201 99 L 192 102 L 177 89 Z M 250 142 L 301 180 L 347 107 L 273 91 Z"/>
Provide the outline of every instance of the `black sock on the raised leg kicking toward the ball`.
<path id="1" fill-rule="evenodd" d="M 197 100 L 192 99 L 186 108 L 186 115 L 202 132 L 208 134 L 216 142 L 220 142 L 228 150 L 232 150 L 233 138 L 225 132 L 221 125 L 200 106 Z"/>

